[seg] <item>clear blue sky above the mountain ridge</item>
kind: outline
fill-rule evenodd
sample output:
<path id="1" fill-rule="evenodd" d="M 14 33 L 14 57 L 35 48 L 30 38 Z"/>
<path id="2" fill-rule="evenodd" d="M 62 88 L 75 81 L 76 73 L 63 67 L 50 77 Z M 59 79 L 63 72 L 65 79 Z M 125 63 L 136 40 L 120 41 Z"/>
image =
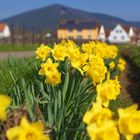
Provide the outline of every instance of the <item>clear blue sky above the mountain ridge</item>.
<path id="1" fill-rule="evenodd" d="M 0 19 L 51 4 L 140 21 L 140 0 L 0 0 Z"/>

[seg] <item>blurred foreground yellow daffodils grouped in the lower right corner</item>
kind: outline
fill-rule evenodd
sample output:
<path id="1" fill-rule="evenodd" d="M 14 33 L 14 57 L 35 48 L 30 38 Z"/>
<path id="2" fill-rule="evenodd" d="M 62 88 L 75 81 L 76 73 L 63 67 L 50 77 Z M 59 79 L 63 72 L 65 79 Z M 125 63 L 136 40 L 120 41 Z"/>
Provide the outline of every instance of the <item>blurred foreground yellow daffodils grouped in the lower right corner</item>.
<path id="1" fill-rule="evenodd" d="M 118 110 L 119 118 L 114 119 L 113 112 L 103 107 L 100 102 L 93 103 L 83 121 L 88 125 L 87 132 L 92 140 L 120 140 L 120 133 L 127 140 L 140 133 L 140 111 L 137 105 Z"/>

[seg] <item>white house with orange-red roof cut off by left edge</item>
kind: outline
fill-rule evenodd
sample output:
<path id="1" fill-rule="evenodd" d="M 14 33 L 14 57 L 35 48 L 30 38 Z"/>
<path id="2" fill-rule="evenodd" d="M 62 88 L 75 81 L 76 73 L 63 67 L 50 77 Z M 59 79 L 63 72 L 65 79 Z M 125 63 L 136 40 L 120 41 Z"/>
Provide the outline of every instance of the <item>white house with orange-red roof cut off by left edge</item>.
<path id="1" fill-rule="evenodd" d="M 8 38 L 10 37 L 10 28 L 5 23 L 0 23 L 0 38 Z"/>

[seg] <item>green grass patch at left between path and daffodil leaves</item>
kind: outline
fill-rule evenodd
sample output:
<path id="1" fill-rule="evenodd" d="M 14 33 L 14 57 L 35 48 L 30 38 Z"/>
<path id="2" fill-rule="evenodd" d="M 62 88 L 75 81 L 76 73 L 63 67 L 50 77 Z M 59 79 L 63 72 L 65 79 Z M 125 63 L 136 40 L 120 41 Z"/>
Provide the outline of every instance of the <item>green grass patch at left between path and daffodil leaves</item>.
<path id="1" fill-rule="evenodd" d="M 32 58 L 14 58 L 0 61 L 0 92 L 10 94 L 14 84 L 22 79 L 27 83 L 34 83 L 37 78 L 37 60 Z"/>

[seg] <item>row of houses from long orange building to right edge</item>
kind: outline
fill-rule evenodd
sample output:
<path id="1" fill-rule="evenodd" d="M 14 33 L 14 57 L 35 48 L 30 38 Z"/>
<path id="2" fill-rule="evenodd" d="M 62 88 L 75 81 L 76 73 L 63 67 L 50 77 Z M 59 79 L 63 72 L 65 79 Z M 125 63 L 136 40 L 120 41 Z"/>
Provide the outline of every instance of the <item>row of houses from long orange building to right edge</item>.
<path id="1" fill-rule="evenodd" d="M 100 40 L 115 44 L 140 45 L 140 29 L 118 24 L 112 29 L 92 21 L 67 21 L 59 24 L 58 39 Z"/>

